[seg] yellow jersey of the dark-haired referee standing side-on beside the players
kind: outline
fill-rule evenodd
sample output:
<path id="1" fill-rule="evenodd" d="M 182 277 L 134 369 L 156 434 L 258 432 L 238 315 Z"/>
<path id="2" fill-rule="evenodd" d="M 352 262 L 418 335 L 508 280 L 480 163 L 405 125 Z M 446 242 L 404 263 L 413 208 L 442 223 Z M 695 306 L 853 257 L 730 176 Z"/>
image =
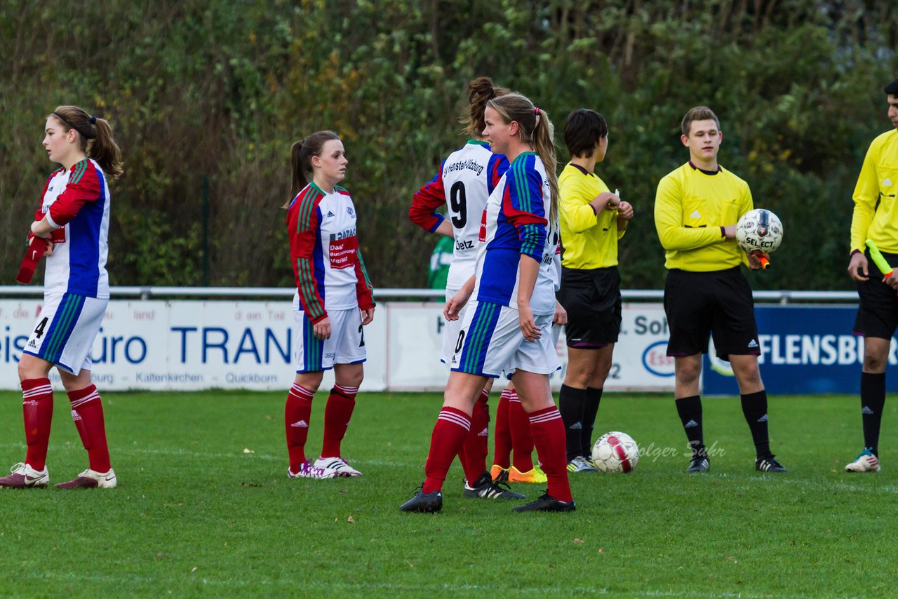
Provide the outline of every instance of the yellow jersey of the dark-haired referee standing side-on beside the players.
<path id="1" fill-rule="evenodd" d="M 596 216 L 589 203 L 603 191 L 604 181 L 576 164 L 568 163 L 559 176 L 561 265 L 568 269 L 604 269 L 617 266 L 617 210 Z"/>

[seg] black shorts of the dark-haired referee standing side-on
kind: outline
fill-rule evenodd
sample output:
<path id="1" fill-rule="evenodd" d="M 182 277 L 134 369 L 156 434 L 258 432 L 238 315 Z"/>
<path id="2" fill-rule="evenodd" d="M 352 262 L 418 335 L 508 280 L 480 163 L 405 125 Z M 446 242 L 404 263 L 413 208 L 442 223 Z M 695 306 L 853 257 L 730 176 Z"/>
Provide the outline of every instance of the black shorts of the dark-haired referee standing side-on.
<path id="1" fill-rule="evenodd" d="M 621 334 L 621 273 L 607 269 L 561 269 L 559 303 L 568 311 L 568 348 L 599 349 Z"/>

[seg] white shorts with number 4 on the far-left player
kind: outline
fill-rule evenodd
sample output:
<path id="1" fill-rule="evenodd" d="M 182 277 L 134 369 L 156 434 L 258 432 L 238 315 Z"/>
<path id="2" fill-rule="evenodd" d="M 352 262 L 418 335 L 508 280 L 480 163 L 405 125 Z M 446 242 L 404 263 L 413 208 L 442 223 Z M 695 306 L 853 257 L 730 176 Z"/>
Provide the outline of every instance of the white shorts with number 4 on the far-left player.
<path id="1" fill-rule="evenodd" d="M 109 299 L 75 294 L 44 296 L 38 322 L 22 353 L 40 357 L 77 375 L 91 369 L 93 339 L 100 332 Z"/>

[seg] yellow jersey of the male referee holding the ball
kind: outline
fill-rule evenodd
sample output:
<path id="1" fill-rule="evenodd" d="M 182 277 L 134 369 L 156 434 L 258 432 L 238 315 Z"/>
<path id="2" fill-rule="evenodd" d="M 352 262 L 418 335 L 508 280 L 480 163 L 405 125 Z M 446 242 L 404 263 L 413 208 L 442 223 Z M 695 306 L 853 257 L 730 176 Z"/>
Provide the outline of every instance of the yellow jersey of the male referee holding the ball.
<path id="1" fill-rule="evenodd" d="M 720 227 L 735 225 L 752 207 L 748 183 L 723 168 L 709 173 L 690 162 L 666 174 L 655 198 L 665 267 L 708 272 L 747 264 L 745 252 Z"/>

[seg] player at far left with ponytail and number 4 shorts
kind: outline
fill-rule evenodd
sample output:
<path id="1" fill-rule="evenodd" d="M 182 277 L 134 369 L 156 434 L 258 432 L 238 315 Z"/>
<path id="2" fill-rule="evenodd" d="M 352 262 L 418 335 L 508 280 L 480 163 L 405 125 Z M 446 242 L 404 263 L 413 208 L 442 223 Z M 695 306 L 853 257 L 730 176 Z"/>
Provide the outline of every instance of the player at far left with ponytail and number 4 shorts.
<path id="1" fill-rule="evenodd" d="M 31 235 L 46 240 L 44 304 L 19 360 L 28 453 L 0 487 L 46 487 L 47 447 L 53 418 L 48 374 L 56 366 L 89 466 L 59 489 L 112 489 L 116 475 L 100 394 L 91 381 L 90 350 L 109 304 L 106 258 L 110 191 L 107 176 L 122 173 L 121 152 L 105 119 L 76 106 L 59 106 L 47 118 L 43 145 L 62 168 L 44 185 Z"/>

